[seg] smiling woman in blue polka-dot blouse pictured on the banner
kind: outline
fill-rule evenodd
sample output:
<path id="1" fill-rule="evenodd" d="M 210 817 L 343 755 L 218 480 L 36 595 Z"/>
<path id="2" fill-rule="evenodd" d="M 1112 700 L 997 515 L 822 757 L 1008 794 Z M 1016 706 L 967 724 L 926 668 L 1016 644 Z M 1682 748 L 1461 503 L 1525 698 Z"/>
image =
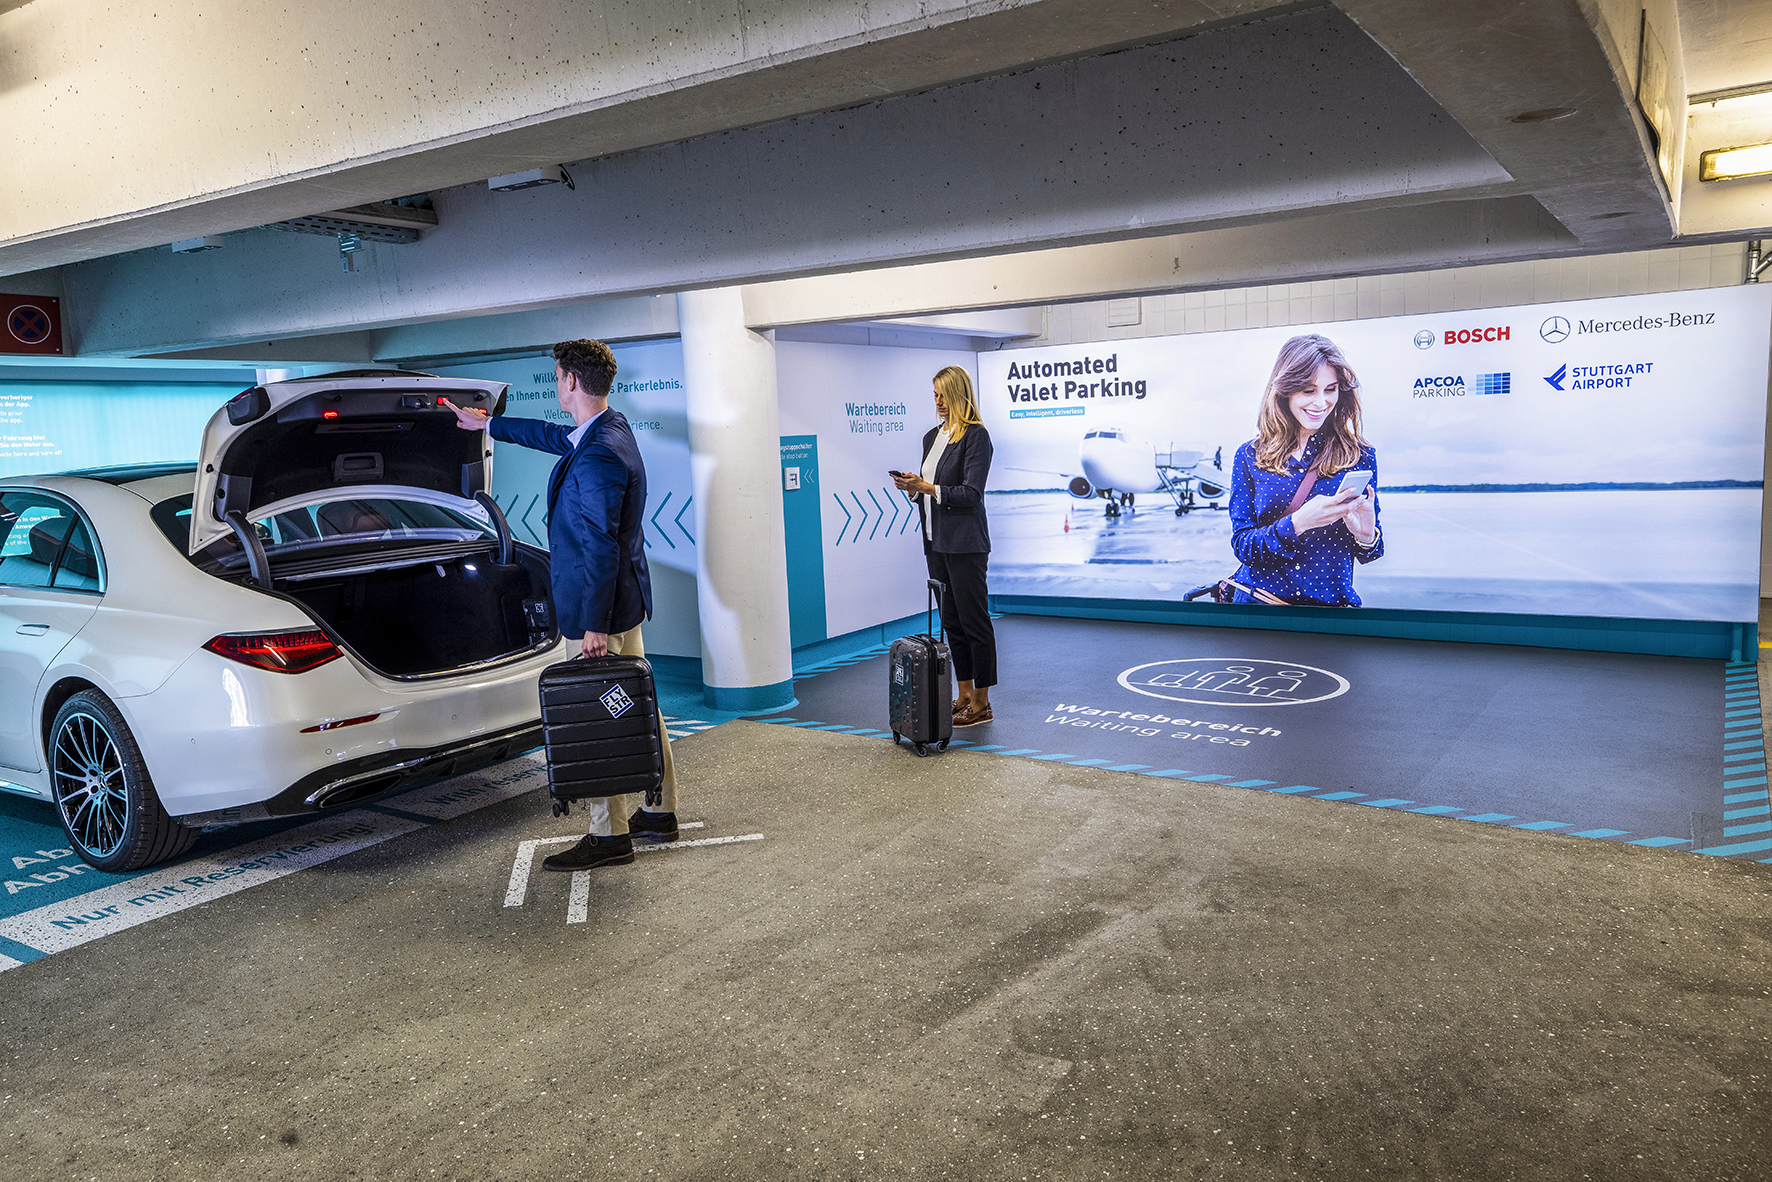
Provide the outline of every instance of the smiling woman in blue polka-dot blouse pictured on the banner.
<path id="1" fill-rule="evenodd" d="M 1327 337 L 1294 337 L 1232 464 L 1232 601 L 1357 608 L 1354 564 L 1384 556 L 1377 484 L 1354 369 Z"/>

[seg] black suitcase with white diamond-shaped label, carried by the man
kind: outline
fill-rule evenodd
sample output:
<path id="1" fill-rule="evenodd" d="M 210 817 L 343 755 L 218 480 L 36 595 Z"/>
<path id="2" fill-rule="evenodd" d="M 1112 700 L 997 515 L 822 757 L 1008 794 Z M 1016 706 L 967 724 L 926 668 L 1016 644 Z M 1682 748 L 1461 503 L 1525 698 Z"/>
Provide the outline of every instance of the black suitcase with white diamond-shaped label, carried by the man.
<path id="1" fill-rule="evenodd" d="M 572 801 L 645 792 L 664 799 L 664 737 L 645 657 L 581 657 L 542 670 L 542 734 L 555 817 Z"/>

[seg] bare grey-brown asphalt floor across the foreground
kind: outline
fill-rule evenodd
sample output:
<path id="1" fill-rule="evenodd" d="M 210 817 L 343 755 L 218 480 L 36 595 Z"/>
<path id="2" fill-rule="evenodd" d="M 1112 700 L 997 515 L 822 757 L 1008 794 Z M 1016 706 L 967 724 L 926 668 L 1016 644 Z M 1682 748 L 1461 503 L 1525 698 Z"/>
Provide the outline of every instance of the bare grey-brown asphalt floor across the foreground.
<path id="1" fill-rule="evenodd" d="M 581 820 L 523 790 L 0 973 L 5 1175 L 1772 1177 L 1772 867 L 746 721 L 677 766 L 631 867 L 514 874 Z"/>

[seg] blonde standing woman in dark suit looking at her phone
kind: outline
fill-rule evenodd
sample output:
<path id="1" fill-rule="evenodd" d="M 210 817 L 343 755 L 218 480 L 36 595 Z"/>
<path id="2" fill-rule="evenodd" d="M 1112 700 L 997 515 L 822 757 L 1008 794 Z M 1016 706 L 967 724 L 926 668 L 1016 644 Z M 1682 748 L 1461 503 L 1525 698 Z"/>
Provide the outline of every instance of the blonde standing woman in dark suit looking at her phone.
<path id="1" fill-rule="evenodd" d="M 959 682 L 953 725 L 976 727 L 991 721 L 991 686 L 996 684 L 996 633 L 991 629 L 985 588 L 991 432 L 978 418 L 973 379 L 959 365 L 936 374 L 936 413 L 941 425 L 923 436 L 921 473 L 895 473 L 893 482 L 921 510 L 929 578 L 948 588 L 941 599 L 941 618 L 946 620 Z"/>

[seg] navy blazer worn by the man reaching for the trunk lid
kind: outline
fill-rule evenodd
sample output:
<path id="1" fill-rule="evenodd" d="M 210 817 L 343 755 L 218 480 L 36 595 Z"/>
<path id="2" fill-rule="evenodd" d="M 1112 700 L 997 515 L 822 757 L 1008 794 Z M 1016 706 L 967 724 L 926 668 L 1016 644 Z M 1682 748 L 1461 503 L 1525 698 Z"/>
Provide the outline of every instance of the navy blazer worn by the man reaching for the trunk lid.
<path id="1" fill-rule="evenodd" d="M 548 549 L 555 622 L 562 636 L 618 634 L 652 618 L 647 572 L 647 466 L 620 411 L 597 415 L 574 448 L 569 429 L 498 416 L 494 439 L 563 459 L 548 478 Z"/>

